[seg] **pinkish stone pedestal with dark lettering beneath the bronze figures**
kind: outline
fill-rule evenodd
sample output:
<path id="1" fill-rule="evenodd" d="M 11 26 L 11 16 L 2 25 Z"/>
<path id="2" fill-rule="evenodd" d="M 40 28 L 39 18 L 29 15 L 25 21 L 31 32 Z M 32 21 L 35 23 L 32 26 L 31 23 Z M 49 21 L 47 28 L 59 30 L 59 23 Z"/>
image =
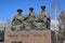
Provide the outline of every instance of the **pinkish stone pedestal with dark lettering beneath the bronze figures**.
<path id="1" fill-rule="evenodd" d="M 9 31 L 4 43 L 56 43 L 55 33 L 51 30 Z"/>

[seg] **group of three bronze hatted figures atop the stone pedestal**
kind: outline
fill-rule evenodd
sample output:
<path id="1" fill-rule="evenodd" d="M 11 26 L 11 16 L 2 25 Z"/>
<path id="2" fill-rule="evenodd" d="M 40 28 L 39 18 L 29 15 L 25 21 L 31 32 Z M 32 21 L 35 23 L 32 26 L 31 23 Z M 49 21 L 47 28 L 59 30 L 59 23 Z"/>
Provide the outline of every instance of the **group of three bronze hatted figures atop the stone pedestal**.
<path id="1" fill-rule="evenodd" d="M 29 8 L 29 14 L 23 15 L 22 10 L 17 10 L 17 15 L 14 16 L 12 20 L 11 30 L 21 31 L 21 30 L 44 30 L 50 29 L 50 15 L 49 12 L 46 12 L 46 6 L 41 6 L 41 13 L 39 16 L 34 13 L 34 9 Z"/>

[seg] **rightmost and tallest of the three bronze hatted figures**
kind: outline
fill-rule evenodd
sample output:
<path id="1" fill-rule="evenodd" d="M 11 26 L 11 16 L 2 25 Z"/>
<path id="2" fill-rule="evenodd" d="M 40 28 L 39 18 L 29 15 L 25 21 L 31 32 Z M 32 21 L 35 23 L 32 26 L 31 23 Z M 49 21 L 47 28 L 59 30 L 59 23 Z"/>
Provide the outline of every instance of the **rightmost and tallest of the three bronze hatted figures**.
<path id="1" fill-rule="evenodd" d="M 50 29 L 50 15 L 46 12 L 46 6 L 41 6 L 41 14 L 39 15 L 40 29 Z"/>

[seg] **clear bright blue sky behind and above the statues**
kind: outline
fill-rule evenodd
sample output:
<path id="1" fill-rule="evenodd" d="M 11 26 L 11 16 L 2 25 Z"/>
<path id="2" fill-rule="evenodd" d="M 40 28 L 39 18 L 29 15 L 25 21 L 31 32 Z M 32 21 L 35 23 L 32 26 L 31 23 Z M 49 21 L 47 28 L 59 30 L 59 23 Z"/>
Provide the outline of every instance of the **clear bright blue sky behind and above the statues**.
<path id="1" fill-rule="evenodd" d="M 29 13 L 29 8 L 32 6 L 35 9 L 34 12 L 39 14 L 41 12 L 41 5 L 47 6 L 47 11 L 50 12 L 51 18 L 53 19 L 52 4 L 54 1 L 58 2 L 61 9 L 65 11 L 65 0 L 0 0 L 0 20 L 13 19 L 17 14 L 17 9 L 22 9 L 23 14 L 26 15 Z"/>

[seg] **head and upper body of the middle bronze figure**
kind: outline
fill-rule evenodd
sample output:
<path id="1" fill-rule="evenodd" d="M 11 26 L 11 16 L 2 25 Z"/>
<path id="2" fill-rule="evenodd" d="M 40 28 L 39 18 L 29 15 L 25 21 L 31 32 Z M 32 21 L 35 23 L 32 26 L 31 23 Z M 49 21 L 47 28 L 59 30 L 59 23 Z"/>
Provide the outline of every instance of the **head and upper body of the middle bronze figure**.
<path id="1" fill-rule="evenodd" d="M 37 22 L 38 16 L 34 13 L 34 9 L 32 8 L 29 8 L 29 11 L 30 11 L 30 13 L 28 14 L 26 22 L 27 23 Z"/>

